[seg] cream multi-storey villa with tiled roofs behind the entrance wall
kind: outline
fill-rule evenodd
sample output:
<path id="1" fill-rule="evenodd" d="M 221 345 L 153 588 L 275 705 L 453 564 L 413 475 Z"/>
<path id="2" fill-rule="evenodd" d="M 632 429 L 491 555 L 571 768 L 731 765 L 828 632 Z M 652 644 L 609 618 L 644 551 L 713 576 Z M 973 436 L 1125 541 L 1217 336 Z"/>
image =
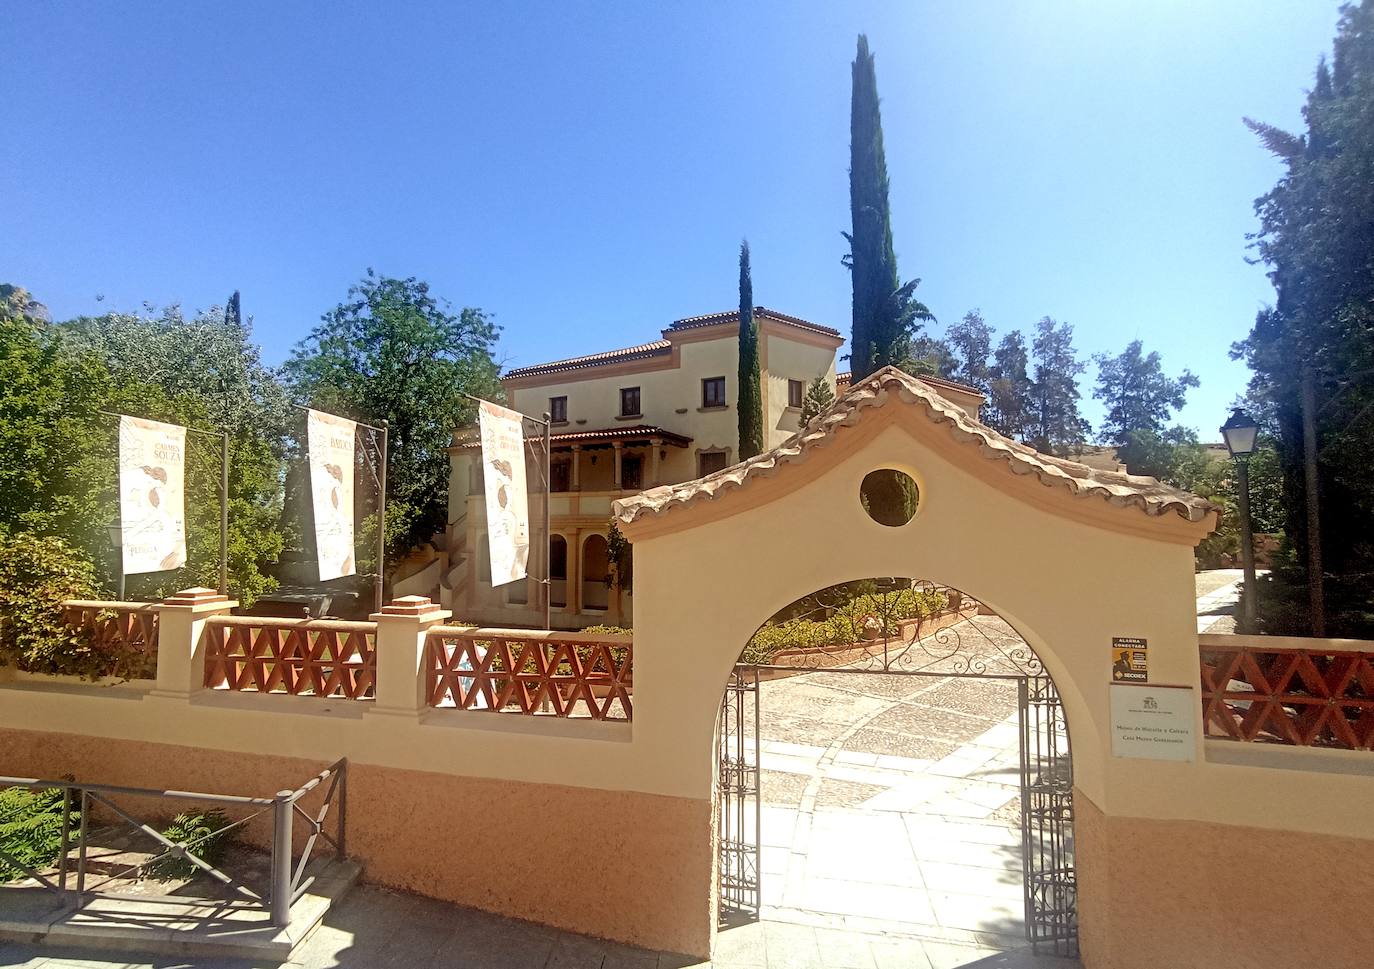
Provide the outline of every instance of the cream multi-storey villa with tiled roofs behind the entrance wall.
<path id="1" fill-rule="evenodd" d="M 812 381 L 824 377 L 844 393 L 849 374 L 835 372 L 835 352 L 844 342 L 840 331 L 764 307 L 754 309 L 754 319 L 767 449 L 798 430 L 802 396 Z M 554 422 L 554 628 L 629 625 L 631 595 L 607 584 L 613 500 L 705 477 L 738 460 L 738 339 L 735 311 L 690 316 L 650 344 L 521 367 L 502 378 L 511 408 L 530 416 L 548 414 Z M 934 377 L 922 379 L 977 418 L 982 404 L 978 390 Z M 480 444 L 470 432 L 458 432 L 449 455 L 448 555 L 447 562 L 433 564 L 438 566 L 438 598 L 463 621 L 543 625 L 533 577 L 491 584 Z M 537 542 L 541 509 L 534 496 L 540 485 L 533 469 L 530 477 L 530 532 Z M 425 572 L 436 577 L 436 569 Z M 431 592 L 426 588 L 423 594 Z"/>

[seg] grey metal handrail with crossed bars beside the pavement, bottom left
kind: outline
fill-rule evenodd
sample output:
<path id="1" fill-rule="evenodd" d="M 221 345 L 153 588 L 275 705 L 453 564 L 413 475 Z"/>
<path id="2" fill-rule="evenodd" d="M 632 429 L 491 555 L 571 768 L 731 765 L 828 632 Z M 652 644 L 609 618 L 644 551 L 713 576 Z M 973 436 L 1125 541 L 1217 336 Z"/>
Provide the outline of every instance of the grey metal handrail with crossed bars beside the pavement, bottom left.
<path id="1" fill-rule="evenodd" d="M 315 815 L 308 814 L 301 805 L 300 800 L 308 793 L 323 785 L 326 781 L 330 782 L 328 789 L 324 792 L 324 801 L 320 805 L 319 812 Z M 335 763 L 330 764 L 322 770 L 315 777 L 309 778 L 305 783 L 294 790 L 279 790 L 273 797 L 251 797 L 242 794 L 213 794 L 202 793 L 194 790 L 157 790 L 151 788 L 129 788 L 125 785 L 114 783 L 81 783 L 80 781 L 69 779 L 47 779 L 47 778 L 22 778 L 22 777 L 4 777 L 0 775 L 0 788 L 27 788 L 36 790 L 58 789 L 62 790 L 62 848 L 58 856 L 58 874 L 56 881 L 49 877 L 40 874 L 38 871 L 21 865 L 16 859 L 0 851 L 0 859 L 11 865 L 12 867 L 23 871 L 26 876 L 38 882 L 45 891 L 58 895 L 63 904 L 70 909 L 80 909 L 88 895 L 95 895 L 96 889 L 106 882 L 121 878 L 133 871 L 146 869 L 168 856 L 174 856 L 181 860 L 188 862 L 194 867 L 199 869 L 205 874 L 210 876 L 214 881 L 220 882 L 228 889 L 232 889 L 236 895 L 246 898 L 250 903 L 267 907 L 271 913 L 272 925 L 278 928 L 284 928 L 290 921 L 291 903 L 295 902 L 305 891 L 309 888 L 311 881 L 305 878 L 305 869 L 311 862 L 311 856 L 315 851 L 315 844 L 319 838 L 324 838 L 330 845 L 334 847 L 335 858 L 346 858 L 345 837 L 348 832 L 346 816 L 348 816 L 348 759 L 342 757 Z M 194 800 L 206 804 L 234 804 L 239 807 L 257 807 L 258 811 L 239 818 L 231 825 L 214 832 L 213 834 L 206 834 L 192 841 L 173 843 L 165 837 L 161 832 L 146 825 L 121 807 L 114 804 L 110 797 L 114 796 L 132 796 L 132 797 L 154 797 L 154 799 L 177 799 L 177 800 Z M 333 811 L 334 799 L 338 797 L 338 819 L 334 834 L 324 830 L 324 822 Z M 80 827 L 77 830 L 77 885 L 76 889 L 67 888 L 69 881 L 69 867 L 71 855 L 71 811 L 73 801 L 80 797 Z M 88 819 L 92 803 L 99 803 L 103 807 L 113 811 L 120 816 L 121 821 L 133 826 L 136 830 L 147 834 L 158 844 L 164 845 L 164 849 L 136 865 L 131 865 L 122 871 L 107 876 L 102 881 L 96 882 L 93 887 L 87 887 L 87 860 L 88 860 Z M 249 889 L 246 885 L 239 882 L 232 876 L 220 871 L 217 867 L 205 862 L 191 854 L 194 848 L 201 841 L 210 837 L 216 837 L 228 832 L 234 827 L 240 827 L 247 822 L 258 818 L 268 811 L 272 811 L 272 865 L 271 865 L 271 884 L 267 892 L 267 898 Z M 305 823 L 309 826 L 309 836 L 305 841 L 305 847 L 301 851 L 301 859 L 293 870 L 293 821 L 294 815 L 300 814 Z M 118 898 L 118 892 L 104 893 L 111 898 Z M 139 896 L 147 899 L 147 895 Z"/>

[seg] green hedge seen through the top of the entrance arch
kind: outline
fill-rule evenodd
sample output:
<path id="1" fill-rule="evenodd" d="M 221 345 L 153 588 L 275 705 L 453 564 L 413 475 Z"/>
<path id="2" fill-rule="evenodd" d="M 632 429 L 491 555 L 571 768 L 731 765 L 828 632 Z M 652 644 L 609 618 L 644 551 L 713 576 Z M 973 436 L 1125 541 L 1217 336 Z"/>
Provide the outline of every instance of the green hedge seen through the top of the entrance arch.
<path id="1" fill-rule="evenodd" d="M 741 661 L 767 664 L 778 653 L 789 649 L 826 649 L 860 642 L 864 639 L 870 617 L 877 620 L 883 636 L 893 636 L 903 621 L 934 616 L 948 605 L 949 597 L 934 590 L 863 591 L 841 602 L 834 612 L 822 610 L 831 612 L 823 619 L 812 619 L 816 612 L 812 610 L 809 614 L 782 621 L 768 620 L 749 639 Z M 783 610 L 787 612 L 791 610 Z"/>

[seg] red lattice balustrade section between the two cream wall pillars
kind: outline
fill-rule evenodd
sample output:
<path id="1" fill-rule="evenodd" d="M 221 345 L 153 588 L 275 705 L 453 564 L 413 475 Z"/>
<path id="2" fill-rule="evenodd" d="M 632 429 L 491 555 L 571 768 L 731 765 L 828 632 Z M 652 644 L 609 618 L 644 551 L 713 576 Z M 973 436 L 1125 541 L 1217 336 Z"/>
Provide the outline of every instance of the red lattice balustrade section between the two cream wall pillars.
<path id="1" fill-rule="evenodd" d="M 217 616 L 206 623 L 213 690 L 371 700 L 376 624 Z"/>

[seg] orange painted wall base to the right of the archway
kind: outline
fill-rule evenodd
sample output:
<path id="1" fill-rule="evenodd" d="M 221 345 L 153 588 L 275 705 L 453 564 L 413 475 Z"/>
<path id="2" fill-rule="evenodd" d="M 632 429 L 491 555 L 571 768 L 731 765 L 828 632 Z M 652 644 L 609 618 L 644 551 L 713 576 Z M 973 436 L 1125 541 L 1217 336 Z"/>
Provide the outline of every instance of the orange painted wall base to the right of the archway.
<path id="1" fill-rule="evenodd" d="M 1109 818 L 1074 793 L 1087 969 L 1369 969 L 1371 838 Z"/>

